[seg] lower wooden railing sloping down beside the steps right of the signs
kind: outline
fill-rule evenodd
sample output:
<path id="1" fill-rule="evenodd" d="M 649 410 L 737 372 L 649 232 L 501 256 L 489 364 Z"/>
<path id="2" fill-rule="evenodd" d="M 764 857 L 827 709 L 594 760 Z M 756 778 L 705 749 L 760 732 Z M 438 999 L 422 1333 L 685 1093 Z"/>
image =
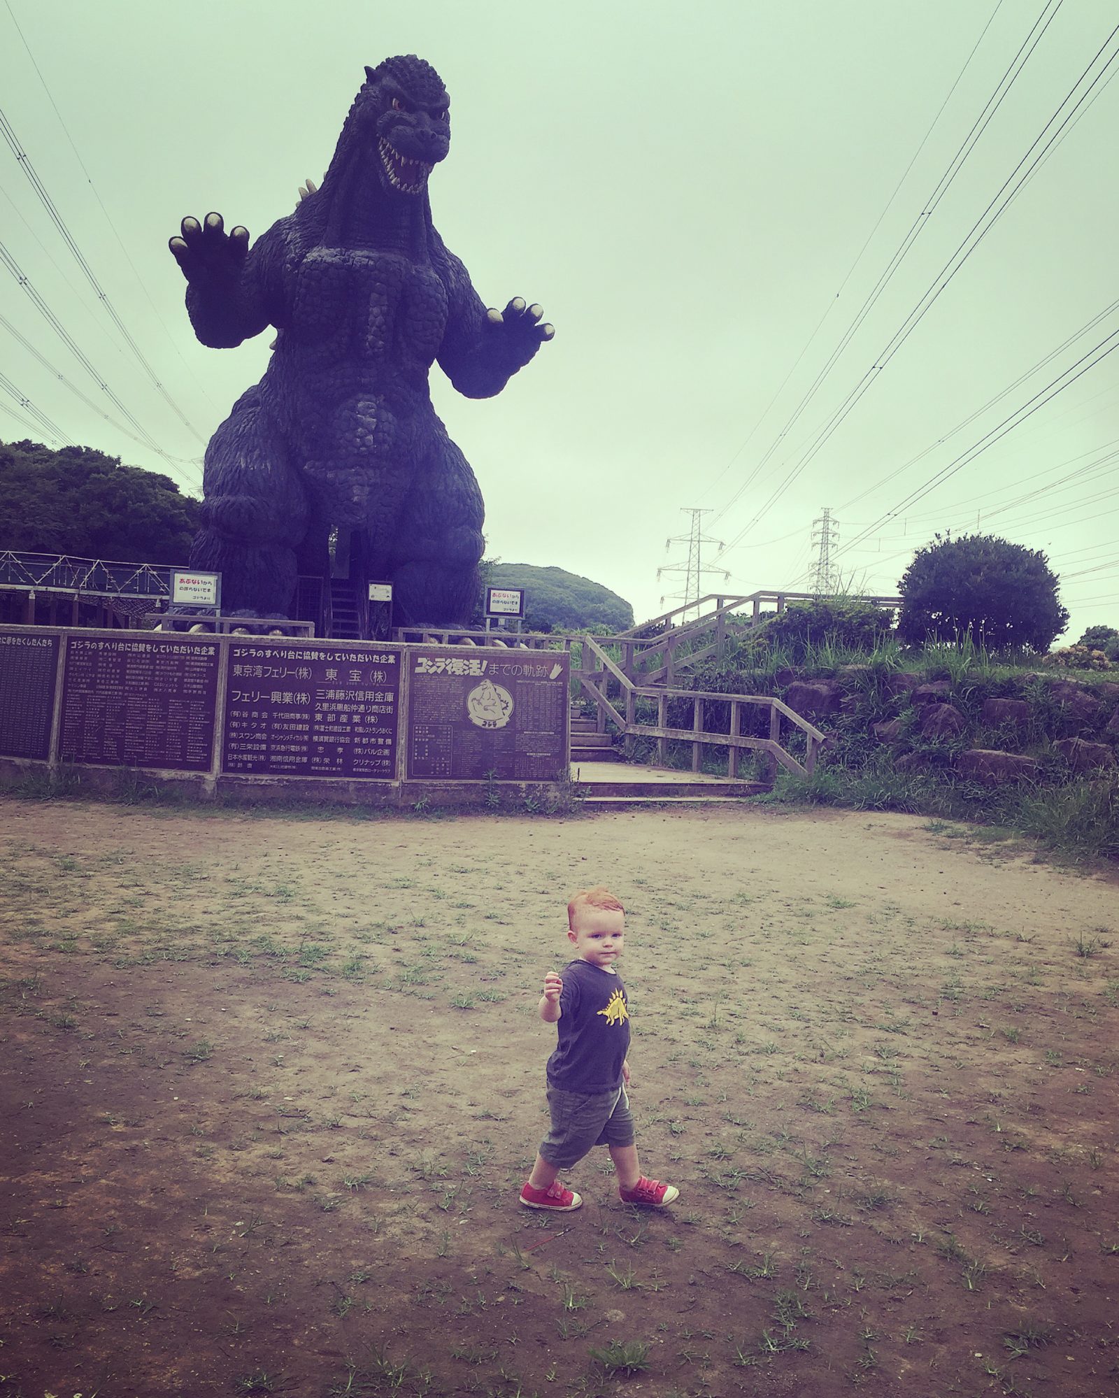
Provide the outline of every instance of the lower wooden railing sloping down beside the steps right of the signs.
<path id="1" fill-rule="evenodd" d="M 625 738 L 627 755 L 632 755 L 634 740 L 652 738 L 656 741 L 657 762 L 664 765 L 669 756 L 670 742 L 691 744 L 691 769 L 698 772 L 702 765 L 705 747 L 727 749 L 727 769 L 732 779 L 739 776 L 739 762 L 743 752 L 751 748 L 769 755 L 769 758 L 783 766 L 787 772 L 800 776 L 811 776 L 815 769 L 815 758 L 825 734 L 814 724 L 808 723 L 799 713 L 782 703 L 774 695 L 720 695 L 694 689 L 674 689 L 671 686 L 635 685 L 621 670 L 599 642 L 592 636 L 582 636 L 583 653 L 579 668 L 572 667 L 572 678 L 578 679 L 583 693 L 596 706 L 599 714 L 599 731 L 604 733 L 607 723 L 613 723 Z M 597 661 L 587 665 L 587 651 Z M 611 696 L 611 681 L 617 685 L 617 695 Z M 655 699 L 657 705 L 657 721 L 655 724 L 641 723 L 636 717 L 638 699 Z M 691 728 L 670 728 L 667 723 L 667 709 L 671 699 L 690 699 L 692 705 Z M 711 730 L 706 727 L 706 705 L 718 702 L 730 706 L 730 724 L 727 731 Z M 743 706 L 762 707 L 769 712 L 769 735 L 755 738 L 741 733 Z M 804 734 L 804 761 L 787 751 L 782 744 L 782 720 Z"/>

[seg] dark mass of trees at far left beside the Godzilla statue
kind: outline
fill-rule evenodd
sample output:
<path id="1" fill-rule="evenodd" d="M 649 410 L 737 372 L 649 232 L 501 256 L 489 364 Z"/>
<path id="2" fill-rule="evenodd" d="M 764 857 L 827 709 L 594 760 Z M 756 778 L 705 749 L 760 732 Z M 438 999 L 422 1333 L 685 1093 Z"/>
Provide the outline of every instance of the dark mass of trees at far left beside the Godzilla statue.
<path id="1" fill-rule="evenodd" d="M 200 502 L 92 447 L 0 442 L 0 548 L 186 563 Z"/>

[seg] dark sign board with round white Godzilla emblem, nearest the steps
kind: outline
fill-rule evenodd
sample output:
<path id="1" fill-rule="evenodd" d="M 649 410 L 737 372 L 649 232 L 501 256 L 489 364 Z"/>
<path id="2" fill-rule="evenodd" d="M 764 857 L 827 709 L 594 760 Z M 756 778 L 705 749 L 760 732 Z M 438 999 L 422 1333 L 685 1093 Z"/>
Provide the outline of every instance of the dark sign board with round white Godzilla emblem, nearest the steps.
<path id="1" fill-rule="evenodd" d="M 561 650 L 408 650 L 408 777 L 554 781 L 568 773 Z"/>

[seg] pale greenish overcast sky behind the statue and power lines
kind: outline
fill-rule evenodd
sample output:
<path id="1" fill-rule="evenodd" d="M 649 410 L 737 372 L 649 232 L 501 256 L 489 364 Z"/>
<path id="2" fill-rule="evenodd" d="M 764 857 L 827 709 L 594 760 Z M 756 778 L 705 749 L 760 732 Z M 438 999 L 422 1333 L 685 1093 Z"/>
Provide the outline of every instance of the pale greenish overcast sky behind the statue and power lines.
<path id="1" fill-rule="evenodd" d="M 490 555 L 648 617 L 680 590 L 656 572 L 685 555 L 664 547 L 685 507 L 730 545 L 705 548 L 732 575 L 709 590 L 741 593 L 808 586 L 824 506 L 843 582 L 878 593 L 933 531 L 978 526 L 1046 551 L 1076 639 L 1119 625 L 1119 352 L 1092 366 L 1119 345 L 1118 20 L 1112 0 L 3 0 L 7 131 L 173 407 L 8 145 L 0 372 L 64 438 L 169 470 L 104 380 L 197 488 L 270 336 L 199 345 L 166 239 L 210 210 L 264 232 L 320 178 L 364 64 L 418 53 L 453 109 L 436 226 L 487 305 L 523 295 L 557 330 L 492 400 L 432 370 Z M 0 387 L 0 438 L 24 436 L 50 440 Z"/>

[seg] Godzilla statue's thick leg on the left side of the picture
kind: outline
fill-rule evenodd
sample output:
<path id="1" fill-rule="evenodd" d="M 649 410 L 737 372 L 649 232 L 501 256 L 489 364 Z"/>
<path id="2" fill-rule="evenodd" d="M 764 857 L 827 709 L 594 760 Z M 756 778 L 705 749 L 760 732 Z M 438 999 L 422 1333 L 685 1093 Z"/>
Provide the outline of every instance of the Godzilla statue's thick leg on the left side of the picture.
<path id="1" fill-rule="evenodd" d="M 308 498 L 259 387 L 238 398 L 210 439 L 203 493 L 190 566 L 221 573 L 222 611 L 287 615 Z"/>

